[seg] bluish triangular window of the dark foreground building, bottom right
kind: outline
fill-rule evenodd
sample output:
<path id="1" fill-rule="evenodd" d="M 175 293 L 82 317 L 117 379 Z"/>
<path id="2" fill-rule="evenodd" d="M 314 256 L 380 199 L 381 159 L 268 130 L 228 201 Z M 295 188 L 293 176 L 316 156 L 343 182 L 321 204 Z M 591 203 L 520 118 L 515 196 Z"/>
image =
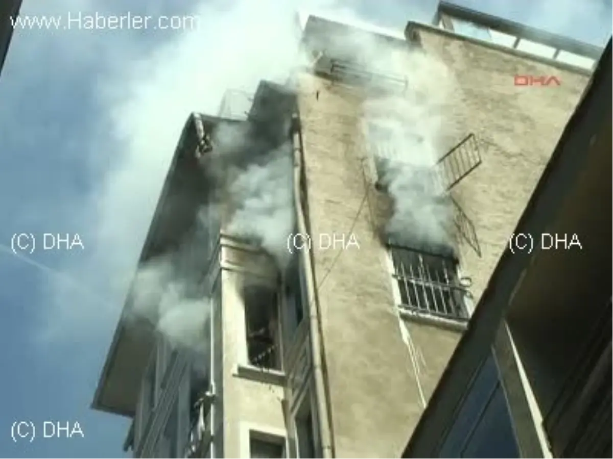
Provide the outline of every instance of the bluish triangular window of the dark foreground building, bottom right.
<path id="1" fill-rule="evenodd" d="M 439 459 L 519 459 L 500 374 L 492 353 L 473 379 L 446 433 Z"/>

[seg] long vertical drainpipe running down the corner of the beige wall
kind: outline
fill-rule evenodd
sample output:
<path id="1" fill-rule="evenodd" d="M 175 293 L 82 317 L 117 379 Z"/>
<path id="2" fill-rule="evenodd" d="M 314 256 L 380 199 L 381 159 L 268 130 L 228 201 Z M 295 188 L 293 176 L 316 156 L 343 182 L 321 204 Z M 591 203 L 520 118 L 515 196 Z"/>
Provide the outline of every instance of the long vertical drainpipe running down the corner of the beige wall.
<path id="1" fill-rule="evenodd" d="M 292 120 L 299 125 L 300 117 L 295 115 Z M 299 233 L 308 234 L 307 223 L 305 222 L 304 209 L 300 201 L 300 176 L 302 172 L 302 137 L 300 129 L 295 129 L 293 133 L 294 141 L 294 200 L 297 209 L 297 226 Z M 322 459 L 333 459 L 335 457 L 332 435 L 330 432 L 330 419 L 328 409 L 327 390 L 324 383 L 322 371 L 322 349 L 321 349 L 321 323 L 319 322 L 319 301 L 317 298 L 316 286 L 314 285 L 314 271 L 311 263 L 311 251 L 303 259 L 305 268 L 305 280 L 307 282 L 309 319 L 310 319 L 310 341 L 311 341 L 311 360 L 313 362 L 313 379 L 315 383 L 315 400 L 318 409 L 319 420 L 319 439 L 322 447 Z"/>

